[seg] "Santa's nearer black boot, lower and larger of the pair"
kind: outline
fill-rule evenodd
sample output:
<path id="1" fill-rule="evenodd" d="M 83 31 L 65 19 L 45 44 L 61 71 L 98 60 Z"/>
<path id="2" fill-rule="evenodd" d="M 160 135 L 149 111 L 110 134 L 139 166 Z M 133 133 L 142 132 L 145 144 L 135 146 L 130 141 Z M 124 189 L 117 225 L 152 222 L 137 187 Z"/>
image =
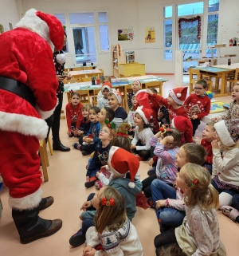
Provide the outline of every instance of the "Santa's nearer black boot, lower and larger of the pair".
<path id="1" fill-rule="evenodd" d="M 33 210 L 12 210 L 14 223 L 22 243 L 33 242 L 56 233 L 62 226 L 61 219 L 47 220 L 39 216 L 39 207 Z"/>

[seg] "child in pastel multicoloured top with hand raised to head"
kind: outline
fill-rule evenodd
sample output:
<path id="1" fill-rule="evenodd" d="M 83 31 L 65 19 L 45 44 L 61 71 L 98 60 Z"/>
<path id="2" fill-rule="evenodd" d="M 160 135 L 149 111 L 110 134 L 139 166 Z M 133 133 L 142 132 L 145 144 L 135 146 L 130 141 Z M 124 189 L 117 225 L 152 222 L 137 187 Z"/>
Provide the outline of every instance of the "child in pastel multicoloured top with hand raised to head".
<path id="1" fill-rule="evenodd" d="M 161 179 L 165 183 L 173 184 L 178 172 L 175 165 L 176 155 L 178 154 L 178 145 L 181 144 L 181 133 L 175 128 L 160 128 L 150 140 L 151 146 L 155 148 L 154 154 L 158 157 L 155 175 L 143 179 L 142 191 L 144 195 L 151 197 L 151 183 L 154 179 Z M 160 141 L 160 142 L 159 142 Z"/>

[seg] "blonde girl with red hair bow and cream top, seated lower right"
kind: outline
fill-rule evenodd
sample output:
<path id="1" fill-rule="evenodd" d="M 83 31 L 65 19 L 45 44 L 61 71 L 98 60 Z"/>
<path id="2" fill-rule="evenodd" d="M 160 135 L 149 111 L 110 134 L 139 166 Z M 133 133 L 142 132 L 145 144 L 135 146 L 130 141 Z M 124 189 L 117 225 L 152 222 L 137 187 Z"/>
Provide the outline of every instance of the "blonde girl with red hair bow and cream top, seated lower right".
<path id="1" fill-rule="evenodd" d="M 186 210 L 181 226 L 155 237 L 156 255 L 163 247 L 176 244 L 186 255 L 225 256 L 225 246 L 220 241 L 217 219 L 218 193 L 210 186 L 210 173 L 194 163 L 186 163 L 177 178 L 178 187 L 185 195 L 184 204 L 174 207 Z"/>

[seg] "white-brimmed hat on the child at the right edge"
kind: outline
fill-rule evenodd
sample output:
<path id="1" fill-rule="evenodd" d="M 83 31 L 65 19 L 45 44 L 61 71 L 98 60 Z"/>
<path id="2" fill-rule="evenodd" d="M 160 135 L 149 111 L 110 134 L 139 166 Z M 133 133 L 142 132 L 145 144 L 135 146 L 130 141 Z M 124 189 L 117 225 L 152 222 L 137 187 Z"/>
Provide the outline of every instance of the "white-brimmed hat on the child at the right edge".
<path id="1" fill-rule="evenodd" d="M 231 147 L 239 140 L 239 119 L 221 120 L 214 124 L 221 143 Z"/>

